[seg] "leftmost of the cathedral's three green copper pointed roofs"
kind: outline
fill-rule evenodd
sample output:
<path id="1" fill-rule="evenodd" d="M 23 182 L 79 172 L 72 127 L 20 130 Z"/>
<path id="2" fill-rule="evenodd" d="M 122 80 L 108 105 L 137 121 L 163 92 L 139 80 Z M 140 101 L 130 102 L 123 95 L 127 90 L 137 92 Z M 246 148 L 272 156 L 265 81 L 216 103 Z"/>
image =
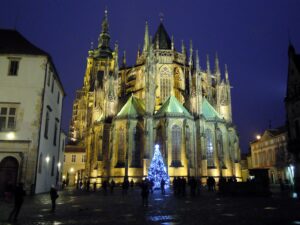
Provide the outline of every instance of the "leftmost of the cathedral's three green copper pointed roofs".
<path id="1" fill-rule="evenodd" d="M 117 114 L 117 118 L 136 118 L 145 114 L 144 103 L 134 96 L 131 96 L 126 104 Z"/>

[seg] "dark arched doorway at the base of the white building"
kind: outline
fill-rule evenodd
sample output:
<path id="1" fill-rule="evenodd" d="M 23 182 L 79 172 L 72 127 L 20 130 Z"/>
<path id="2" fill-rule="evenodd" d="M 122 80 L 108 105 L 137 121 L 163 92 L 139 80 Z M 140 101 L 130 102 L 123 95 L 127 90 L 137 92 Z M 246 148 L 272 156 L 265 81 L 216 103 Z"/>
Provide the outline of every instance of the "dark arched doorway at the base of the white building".
<path id="1" fill-rule="evenodd" d="M 12 156 L 5 157 L 0 162 L 0 192 L 4 192 L 10 185 L 16 185 L 18 170 L 18 160 Z"/>

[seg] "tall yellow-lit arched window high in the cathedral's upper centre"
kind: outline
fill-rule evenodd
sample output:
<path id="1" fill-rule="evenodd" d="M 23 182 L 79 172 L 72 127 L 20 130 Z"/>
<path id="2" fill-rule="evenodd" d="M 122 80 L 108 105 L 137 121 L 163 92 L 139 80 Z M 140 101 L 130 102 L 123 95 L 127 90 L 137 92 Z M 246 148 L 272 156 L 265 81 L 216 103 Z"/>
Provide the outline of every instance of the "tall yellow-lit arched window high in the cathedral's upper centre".
<path id="1" fill-rule="evenodd" d="M 160 70 L 160 95 L 161 102 L 164 103 L 171 93 L 171 72 L 168 67 Z"/>

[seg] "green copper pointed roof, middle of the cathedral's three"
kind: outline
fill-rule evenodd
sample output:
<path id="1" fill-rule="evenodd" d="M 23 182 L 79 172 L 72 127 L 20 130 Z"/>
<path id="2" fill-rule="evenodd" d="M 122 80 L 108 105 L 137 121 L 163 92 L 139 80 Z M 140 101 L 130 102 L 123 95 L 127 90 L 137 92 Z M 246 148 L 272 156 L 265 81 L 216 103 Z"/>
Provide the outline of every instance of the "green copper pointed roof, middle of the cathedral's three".
<path id="1" fill-rule="evenodd" d="M 186 108 L 174 96 L 170 96 L 167 101 L 156 112 L 156 117 L 160 116 L 185 116 L 192 117 Z"/>

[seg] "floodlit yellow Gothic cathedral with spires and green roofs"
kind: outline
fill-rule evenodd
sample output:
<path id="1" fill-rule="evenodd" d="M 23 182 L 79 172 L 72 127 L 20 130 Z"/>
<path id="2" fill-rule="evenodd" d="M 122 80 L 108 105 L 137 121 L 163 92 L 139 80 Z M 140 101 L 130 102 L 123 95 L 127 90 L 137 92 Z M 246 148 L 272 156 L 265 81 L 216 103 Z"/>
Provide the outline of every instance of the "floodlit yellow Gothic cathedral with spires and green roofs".
<path id="1" fill-rule="evenodd" d="M 117 182 L 147 176 L 159 145 L 168 175 L 241 177 L 239 138 L 232 123 L 228 71 L 219 60 L 206 70 L 190 43 L 174 47 L 162 21 L 134 66 L 119 66 L 110 47 L 107 11 L 98 46 L 89 50 L 83 87 L 77 91 L 70 138 L 86 148 L 86 177 Z"/>

